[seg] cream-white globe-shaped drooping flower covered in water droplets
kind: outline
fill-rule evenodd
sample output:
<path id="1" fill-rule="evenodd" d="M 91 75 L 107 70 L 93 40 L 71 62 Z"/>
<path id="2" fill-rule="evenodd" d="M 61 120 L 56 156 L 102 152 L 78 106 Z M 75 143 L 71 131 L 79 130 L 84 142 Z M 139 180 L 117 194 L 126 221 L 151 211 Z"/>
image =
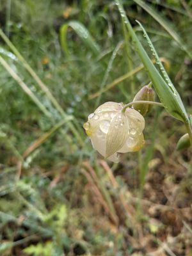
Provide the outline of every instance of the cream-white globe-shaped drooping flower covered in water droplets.
<path id="1" fill-rule="evenodd" d="M 88 116 L 83 127 L 95 148 L 102 156 L 118 163 L 122 153 L 134 152 L 143 147 L 143 116 L 132 108 L 122 112 L 124 104 L 106 102 Z"/>

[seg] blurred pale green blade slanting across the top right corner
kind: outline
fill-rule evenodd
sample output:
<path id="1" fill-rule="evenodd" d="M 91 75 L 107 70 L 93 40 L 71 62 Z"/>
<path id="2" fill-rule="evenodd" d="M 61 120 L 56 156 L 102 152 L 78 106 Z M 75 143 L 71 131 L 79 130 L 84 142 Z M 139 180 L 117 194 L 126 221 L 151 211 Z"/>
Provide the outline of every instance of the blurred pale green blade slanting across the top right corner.
<path id="1" fill-rule="evenodd" d="M 148 12 L 161 26 L 163 26 L 163 28 L 172 36 L 172 38 L 177 42 L 177 44 L 179 44 L 180 49 L 185 51 L 189 55 L 189 57 L 192 58 L 192 53 L 189 52 L 188 47 L 184 44 L 182 38 L 180 38 L 177 32 L 173 30 L 172 26 L 170 26 L 169 22 L 165 18 L 161 17 L 161 15 L 159 15 L 159 13 L 156 12 L 156 10 L 154 10 L 152 7 L 150 7 L 143 1 L 134 0 L 134 2 L 140 5 L 141 8 Z"/>

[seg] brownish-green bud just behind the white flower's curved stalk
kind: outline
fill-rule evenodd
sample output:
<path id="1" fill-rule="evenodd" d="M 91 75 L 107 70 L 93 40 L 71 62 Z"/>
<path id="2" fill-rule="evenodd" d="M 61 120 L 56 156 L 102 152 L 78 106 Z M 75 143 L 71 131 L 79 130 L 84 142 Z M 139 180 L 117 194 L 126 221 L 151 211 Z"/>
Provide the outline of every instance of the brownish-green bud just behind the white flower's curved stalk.
<path id="1" fill-rule="evenodd" d="M 155 93 L 154 90 L 147 85 L 143 86 L 141 90 L 135 95 L 134 101 L 138 100 L 147 100 L 147 101 L 154 101 L 155 99 Z M 152 105 L 150 104 L 132 104 L 132 108 L 136 109 L 141 113 L 141 115 L 145 116 L 150 109 L 152 108 Z"/>

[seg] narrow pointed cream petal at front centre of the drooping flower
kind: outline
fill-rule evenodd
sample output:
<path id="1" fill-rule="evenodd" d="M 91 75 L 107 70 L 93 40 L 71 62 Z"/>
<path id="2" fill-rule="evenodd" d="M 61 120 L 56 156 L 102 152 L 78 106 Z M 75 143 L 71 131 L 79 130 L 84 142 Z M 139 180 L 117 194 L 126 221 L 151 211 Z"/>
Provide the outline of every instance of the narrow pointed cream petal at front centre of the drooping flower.
<path id="1" fill-rule="evenodd" d="M 117 113 L 109 126 L 106 138 L 106 157 L 115 154 L 124 145 L 128 130 L 127 116 L 122 112 Z"/>

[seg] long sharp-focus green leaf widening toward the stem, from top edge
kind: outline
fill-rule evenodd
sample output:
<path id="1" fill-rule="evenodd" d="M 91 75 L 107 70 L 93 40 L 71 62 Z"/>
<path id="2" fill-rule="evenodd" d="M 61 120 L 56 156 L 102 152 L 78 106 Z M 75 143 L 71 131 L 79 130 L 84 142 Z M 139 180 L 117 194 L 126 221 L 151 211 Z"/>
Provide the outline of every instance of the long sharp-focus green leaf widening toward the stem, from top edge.
<path id="1" fill-rule="evenodd" d="M 136 33 L 132 29 L 132 26 L 129 20 L 127 19 L 127 16 L 125 14 L 122 4 L 120 3 L 119 0 L 116 0 L 116 4 L 122 16 L 122 19 L 124 20 L 127 26 L 127 29 L 129 30 L 129 33 L 132 37 L 132 40 L 136 47 L 136 51 L 138 51 L 140 59 L 143 62 L 143 65 L 148 72 L 148 76 L 150 77 L 152 84 L 156 89 L 157 95 L 159 96 L 159 99 L 163 103 L 164 108 L 166 109 L 166 111 L 168 111 L 168 113 L 170 113 L 170 115 L 181 120 L 182 122 L 189 122 L 188 115 L 186 113 L 184 105 L 182 104 L 182 100 L 180 99 L 179 93 L 177 93 L 177 90 L 174 88 L 174 86 L 169 86 L 164 81 L 161 74 L 159 74 L 157 68 L 154 66 L 154 64 L 148 57 L 147 52 L 141 45 L 140 40 L 138 39 L 138 36 L 136 36 Z"/>

